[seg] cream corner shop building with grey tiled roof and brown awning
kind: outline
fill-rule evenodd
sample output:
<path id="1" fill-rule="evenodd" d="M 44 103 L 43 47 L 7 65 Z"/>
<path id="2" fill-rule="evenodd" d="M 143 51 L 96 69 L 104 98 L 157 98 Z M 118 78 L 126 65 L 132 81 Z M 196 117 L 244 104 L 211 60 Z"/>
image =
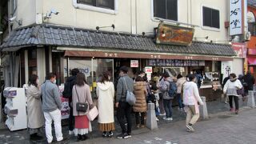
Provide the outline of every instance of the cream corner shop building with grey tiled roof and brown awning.
<path id="1" fill-rule="evenodd" d="M 9 16 L 16 20 L 9 24 L 9 37 L 1 46 L 6 86 L 22 86 L 30 74 L 38 74 L 42 83 L 49 72 L 55 72 L 62 85 L 70 69 L 77 67 L 94 90 L 102 71 L 109 70 L 117 78 L 118 67 L 136 60 L 134 74 L 145 66 L 152 66 L 153 72 L 166 68 L 183 75 L 200 70 L 209 76 L 202 88 L 213 90 L 222 82 L 222 62 L 233 61 L 236 55 L 227 44 L 228 2 L 95 2 L 10 1 L 14 10 Z M 194 33 L 185 45 L 175 38 L 158 43 L 159 34 L 171 34 L 159 30 L 159 23 Z"/>

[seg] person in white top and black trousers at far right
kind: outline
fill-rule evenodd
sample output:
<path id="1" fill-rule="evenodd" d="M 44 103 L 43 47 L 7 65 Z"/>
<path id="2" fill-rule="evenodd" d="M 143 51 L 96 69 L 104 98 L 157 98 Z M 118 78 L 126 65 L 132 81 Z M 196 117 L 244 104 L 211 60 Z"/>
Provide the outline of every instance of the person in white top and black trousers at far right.
<path id="1" fill-rule="evenodd" d="M 235 114 L 238 114 L 239 110 L 239 102 L 238 97 L 239 94 L 237 90 L 242 89 L 242 83 L 238 80 L 235 74 L 230 74 L 230 79 L 226 82 L 223 93 L 229 96 L 230 99 L 230 111 L 234 111 L 233 108 L 233 98 L 235 104 Z"/>

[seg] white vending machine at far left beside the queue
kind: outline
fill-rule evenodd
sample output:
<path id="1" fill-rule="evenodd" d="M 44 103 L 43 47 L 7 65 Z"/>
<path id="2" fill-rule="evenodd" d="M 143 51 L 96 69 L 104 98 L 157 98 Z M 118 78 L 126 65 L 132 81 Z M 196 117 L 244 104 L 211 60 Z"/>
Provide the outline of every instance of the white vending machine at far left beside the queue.
<path id="1" fill-rule="evenodd" d="M 26 117 L 26 95 L 24 88 L 7 87 L 3 91 L 6 97 L 4 108 L 7 114 L 6 126 L 10 131 L 22 130 L 27 128 Z"/>

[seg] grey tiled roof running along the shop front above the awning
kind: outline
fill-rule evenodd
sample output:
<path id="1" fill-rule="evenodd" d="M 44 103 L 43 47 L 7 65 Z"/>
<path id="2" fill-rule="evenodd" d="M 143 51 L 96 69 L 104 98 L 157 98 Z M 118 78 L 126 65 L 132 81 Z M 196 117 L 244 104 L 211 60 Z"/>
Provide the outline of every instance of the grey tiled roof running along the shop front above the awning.
<path id="1" fill-rule="evenodd" d="M 150 37 L 50 25 L 29 26 L 14 30 L 1 48 L 37 45 L 171 54 L 235 55 L 230 45 L 208 42 L 193 42 L 191 46 L 156 45 Z"/>

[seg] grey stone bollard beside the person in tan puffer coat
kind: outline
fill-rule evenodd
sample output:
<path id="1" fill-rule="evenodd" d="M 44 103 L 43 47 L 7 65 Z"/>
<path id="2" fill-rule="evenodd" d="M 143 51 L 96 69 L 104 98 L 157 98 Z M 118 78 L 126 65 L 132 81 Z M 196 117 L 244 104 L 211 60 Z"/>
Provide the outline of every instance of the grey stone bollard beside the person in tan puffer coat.
<path id="1" fill-rule="evenodd" d="M 150 130 L 158 129 L 158 122 L 155 116 L 154 103 L 147 104 L 146 127 Z"/>

